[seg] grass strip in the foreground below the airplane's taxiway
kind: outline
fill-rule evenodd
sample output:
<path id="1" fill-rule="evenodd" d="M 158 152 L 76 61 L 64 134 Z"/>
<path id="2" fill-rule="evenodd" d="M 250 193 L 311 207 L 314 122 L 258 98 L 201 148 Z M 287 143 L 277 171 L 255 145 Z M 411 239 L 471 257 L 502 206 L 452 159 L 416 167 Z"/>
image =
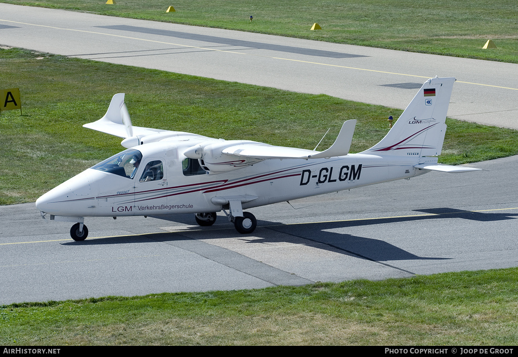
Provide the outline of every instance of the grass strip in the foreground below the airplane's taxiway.
<path id="1" fill-rule="evenodd" d="M 515 346 L 518 269 L 0 307 L 0 345 Z"/>

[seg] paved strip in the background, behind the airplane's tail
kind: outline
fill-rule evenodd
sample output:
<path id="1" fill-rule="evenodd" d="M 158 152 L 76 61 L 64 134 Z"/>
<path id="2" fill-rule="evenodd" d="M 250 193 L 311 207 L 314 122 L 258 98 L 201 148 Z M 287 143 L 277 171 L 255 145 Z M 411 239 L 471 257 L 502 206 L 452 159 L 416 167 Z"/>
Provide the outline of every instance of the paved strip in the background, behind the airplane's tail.
<path id="1" fill-rule="evenodd" d="M 0 45 L 401 109 L 426 79 L 455 77 L 450 117 L 518 129 L 514 63 L 10 4 L 0 4 Z"/>

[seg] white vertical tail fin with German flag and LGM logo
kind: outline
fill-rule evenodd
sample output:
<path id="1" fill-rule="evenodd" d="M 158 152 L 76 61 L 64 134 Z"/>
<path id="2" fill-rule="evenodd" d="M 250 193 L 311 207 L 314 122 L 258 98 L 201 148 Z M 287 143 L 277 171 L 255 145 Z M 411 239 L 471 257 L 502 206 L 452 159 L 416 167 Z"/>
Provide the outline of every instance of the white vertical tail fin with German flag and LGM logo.
<path id="1" fill-rule="evenodd" d="M 362 154 L 437 156 L 455 78 L 430 78 L 385 137 Z"/>

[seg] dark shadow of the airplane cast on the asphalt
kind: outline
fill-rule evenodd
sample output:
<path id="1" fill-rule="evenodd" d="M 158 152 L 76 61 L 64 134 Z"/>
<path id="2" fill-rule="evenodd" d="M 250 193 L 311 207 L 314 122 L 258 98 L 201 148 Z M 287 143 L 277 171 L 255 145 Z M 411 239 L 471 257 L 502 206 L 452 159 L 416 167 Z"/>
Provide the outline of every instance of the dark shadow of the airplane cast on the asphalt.
<path id="1" fill-rule="evenodd" d="M 199 241 L 210 239 L 239 239 L 245 244 L 275 244 L 290 242 L 305 244 L 318 249 L 333 251 L 372 261 L 390 260 L 447 260 L 451 258 L 421 257 L 404 249 L 383 241 L 367 237 L 359 237 L 350 234 L 330 232 L 331 229 L 343 229 L 398 222 L 423 221 L 430 219 L 463 218 L 479 222 L 493 222 L 504 219 L 515 219 L 518 214 L 510 213 L 482 213 L 463 211 L 451 208 L 422 209 L 416 212 L 429 213 L 430 215 L 416 215 L 406 217 L 366 218 L 355 221 L 337 221 L 303 224 L 282 224 L 271 221 L 258 221 L 257 229 L 251 235 L 241 235 L 234 227 L 220 217 L 219 222 L 211 227 L 192 226 L 192 215 L 153 216 L 166 221 L 188 224 L 183 230 L 173 232 L 159 232 L 145 235 L 127 235 L 120 237 L 107 237 L 87 239 L 83 242 L 67 242 L 64 245 L 97 245 L 97 244 L 126 244 L 148 242 L 175 242 L 175 241 Z M 223 222 L 222 222 L 223 221 Z M 276 232 L 272 234 L 272 231 Z M 194 237 L 193 234 L 196 236 Z M 208 244 L 208 243 L 207 243 Z"/>

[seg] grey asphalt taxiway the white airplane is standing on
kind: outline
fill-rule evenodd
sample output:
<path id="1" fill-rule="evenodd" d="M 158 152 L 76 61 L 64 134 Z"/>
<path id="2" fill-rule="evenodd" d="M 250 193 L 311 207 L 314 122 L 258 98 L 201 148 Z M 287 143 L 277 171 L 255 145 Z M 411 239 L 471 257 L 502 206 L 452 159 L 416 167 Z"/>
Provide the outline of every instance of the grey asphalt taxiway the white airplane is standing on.
<path id="1" fill-rule="evenodd" d="M 161 292 L 381 280 L 518 266 L 518 157 L 466 174 L 432 172 L 249 210 L 240 235 L 224 215 L 86 218 L 89 238 L 0 207 L 0 304 Z"/>

